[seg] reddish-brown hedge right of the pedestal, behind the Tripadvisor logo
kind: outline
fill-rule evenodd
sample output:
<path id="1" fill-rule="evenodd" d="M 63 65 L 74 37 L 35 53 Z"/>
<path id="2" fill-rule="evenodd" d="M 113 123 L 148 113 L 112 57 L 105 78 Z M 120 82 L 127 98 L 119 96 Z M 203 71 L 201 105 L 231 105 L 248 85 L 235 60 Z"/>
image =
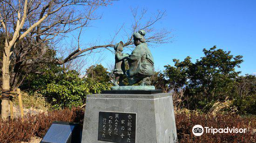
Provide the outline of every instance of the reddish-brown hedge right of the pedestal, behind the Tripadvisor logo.
<path id="1" fill-rule="evenodd" d="M 241 117 L 236 114 L 177 113 L 175 115 L 179 143 L 255 143 L 255 117 Z M 195 125 L 213 128 L 246 128 L 246 133 L 203 133 L 197 137 L 192 133 Z"/>

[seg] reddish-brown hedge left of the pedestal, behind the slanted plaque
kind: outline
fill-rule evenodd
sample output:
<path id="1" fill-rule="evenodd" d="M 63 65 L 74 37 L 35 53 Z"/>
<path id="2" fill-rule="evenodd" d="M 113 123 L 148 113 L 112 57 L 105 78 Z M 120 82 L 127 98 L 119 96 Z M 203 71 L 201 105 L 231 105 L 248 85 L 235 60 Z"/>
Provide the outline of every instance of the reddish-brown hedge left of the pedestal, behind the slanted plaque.
<path id="1" fill-rule="evenodd" d="M 72 108 L 26 114 L 24 122 L 21 118 L 0 120 L 0 143 L 30 142 L 32 137 L 42 138 L 53 121 L 80 123 L 82 127 L 83 119 L 84 109 Z"/>

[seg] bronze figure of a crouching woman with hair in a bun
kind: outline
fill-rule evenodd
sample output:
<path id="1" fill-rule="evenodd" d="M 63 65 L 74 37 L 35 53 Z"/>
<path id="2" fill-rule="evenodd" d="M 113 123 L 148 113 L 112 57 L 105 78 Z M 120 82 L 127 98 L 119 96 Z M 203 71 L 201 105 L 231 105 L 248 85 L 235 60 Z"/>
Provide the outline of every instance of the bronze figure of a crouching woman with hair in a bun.
<path id="1" fill-rule="evenodd" d="M 126 76 L 130 85 L 142 80 L 141 85 L 150 84 L 149 79 L 154 74 L 154 59 L 147 47 L 144 35 L 146 32 L 140 30 L 133 34 L 134 45 L 136 48 L 126 57 L 129 63 L 129 70 Z"/>

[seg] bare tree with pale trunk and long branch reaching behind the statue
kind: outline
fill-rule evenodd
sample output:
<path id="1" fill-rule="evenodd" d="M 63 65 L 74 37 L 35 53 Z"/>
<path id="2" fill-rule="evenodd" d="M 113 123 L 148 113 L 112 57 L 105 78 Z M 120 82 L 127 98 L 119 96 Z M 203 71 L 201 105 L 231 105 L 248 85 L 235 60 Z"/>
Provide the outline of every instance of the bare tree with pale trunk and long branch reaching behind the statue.
<path id="1" fill-rule="evenodd" d="M 151 35 L 147 42 L 161 44 L 169 42 L 170 32 L 157 31 L 154 24 L 162 19 L 165 12 L 158 11 L 156 16 L 143 20 L 146 10 L 138 14 L 138 9 L 132 10 L 134 23 L 129 32 L 121 27 L 109 43 L 104 45 L 77 47 L 66 58 L 57 58 L 54 43 L 60 41 L 65 34 L 77 29 L 89 27 L 92 20 L 100 19 L 95 11 L 111 4 L 112 0 L 1 0 L 0 1 L 0 31 L 5 35 L 5 45 L 2 64 L 2 110 L 1 117 L 8 117 L 8 100 L 10 90 L 16 90 L 24 80 L 25 75 L 33 65 L 53 63 L 63 65 L 71 60 L 90 54 L 95 49 L 114 47 L 115 37 L 124 30 L 127 33 L 125 46 L 130 47 L 132 34 L 144 29 Z M 146 21 L 145 23 L 142 23 Z M 111 49 L 109 49 L 111 50 Z"/>

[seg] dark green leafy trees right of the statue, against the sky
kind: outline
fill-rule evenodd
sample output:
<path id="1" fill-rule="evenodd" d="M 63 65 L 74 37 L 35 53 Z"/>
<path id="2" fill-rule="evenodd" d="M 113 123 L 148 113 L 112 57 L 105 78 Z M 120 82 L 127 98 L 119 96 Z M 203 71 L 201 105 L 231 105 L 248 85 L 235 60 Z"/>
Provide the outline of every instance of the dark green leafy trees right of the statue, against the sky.
<path id="1" fill-rule="evenodd" d="M 216 46 L 203 49 L 203 53 L 195 63 L 189 56 L 184 61 L 173 59 L 174 66 L 166 65 L 163 72 L 152 78 L 157 89 L 174 92 L 185 89 L 181 100 L 189 110 L 208 113 L 214 105 L 229 100 L 232 105 L 223 109 L 226 112 L 237 110 L 240 115 L 255 115 L 256 77 L 239 76 L 237 68 L 243 62 L 242 56 Z"/>

